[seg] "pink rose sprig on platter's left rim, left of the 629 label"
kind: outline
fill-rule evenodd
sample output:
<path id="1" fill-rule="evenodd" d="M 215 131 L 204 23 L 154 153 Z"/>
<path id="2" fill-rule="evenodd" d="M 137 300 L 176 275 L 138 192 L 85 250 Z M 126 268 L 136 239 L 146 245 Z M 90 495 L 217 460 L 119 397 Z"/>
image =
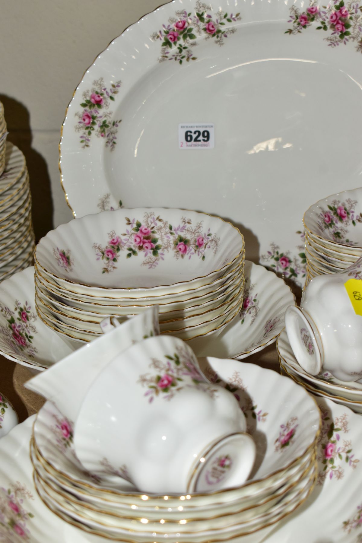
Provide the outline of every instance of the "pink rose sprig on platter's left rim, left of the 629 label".
<path id="1" fill-rule="evenodd" d="M 113 112 L 109 110 L 109 106 L 115 101 L 120 84 L 120 81 L 116 81 L 107 89 L 101 77 L 93 81 L 91 90 L 82 94 L 83 102 L 80 105 L 83 109 L 75 113 L 79 119 L 75 130 L 80 132 L 82 149 L 90 147 L 92 134 L 104 138 L 105 146 L 111 151 L 115 149 L 121 119 L 112 120 Z"/>

